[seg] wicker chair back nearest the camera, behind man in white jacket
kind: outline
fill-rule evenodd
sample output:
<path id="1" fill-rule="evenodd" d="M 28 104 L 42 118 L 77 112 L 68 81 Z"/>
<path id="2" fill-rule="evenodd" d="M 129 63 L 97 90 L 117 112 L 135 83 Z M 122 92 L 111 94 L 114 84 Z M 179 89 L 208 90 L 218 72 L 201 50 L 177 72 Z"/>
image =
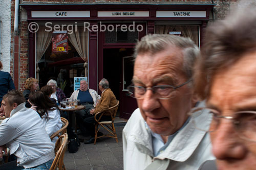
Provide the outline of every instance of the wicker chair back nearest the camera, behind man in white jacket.
<path id="1" fill-rule="evenodd" d="M 67 133 L 61 135 L 58 138 L 58 140 L 55 144 L 55 149 L 54 149 L 55 158 L 50 167 L 50 170 L 55 170 L 55 169 L 66 170 L 65 165 L 63 164 L 63 159 L 64 159 L 67 143 L 68 143 L 68 134 Z"/>

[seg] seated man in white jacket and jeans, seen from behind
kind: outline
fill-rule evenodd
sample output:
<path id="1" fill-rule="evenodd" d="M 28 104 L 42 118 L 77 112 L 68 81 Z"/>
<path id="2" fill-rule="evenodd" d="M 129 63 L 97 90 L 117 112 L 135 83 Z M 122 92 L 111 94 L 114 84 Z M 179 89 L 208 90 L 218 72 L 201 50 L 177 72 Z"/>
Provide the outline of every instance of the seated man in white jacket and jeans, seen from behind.
<path id="1" fill-rule="evenodd" d="M 55 145 L 38 113 L 26 108 L 25 102 L 17 90 L 3 97 L 1 110 L 6 119 L 0 124 L 0 157 L 8 147 L 10 154 L 17 157 L 17 166 L 49 169 L 55 157 Z"/>

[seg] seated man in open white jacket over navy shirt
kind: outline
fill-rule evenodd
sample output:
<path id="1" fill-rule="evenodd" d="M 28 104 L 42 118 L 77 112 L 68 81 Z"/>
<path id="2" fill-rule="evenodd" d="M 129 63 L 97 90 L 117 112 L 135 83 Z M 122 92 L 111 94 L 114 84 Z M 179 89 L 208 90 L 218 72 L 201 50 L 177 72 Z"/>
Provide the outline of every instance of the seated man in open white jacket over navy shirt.
<path id="1" fill-rule="evenodd" d="M 76 111 L 77 113 L 77 123 L 82 134 L 86 134 L 87 129 L 84 128 L 82 120 L 87 116 L 90 116 L 90 111 L 94 109 L 98 101 L 100 100 L 100 95 L 93 90 L 88 88 L 86 80 L 80 81 L 80 89 L 74 91 L 69 98 L 69 100 L 79 99 L 80 103 L 86 107 L 86 109 Z"/>

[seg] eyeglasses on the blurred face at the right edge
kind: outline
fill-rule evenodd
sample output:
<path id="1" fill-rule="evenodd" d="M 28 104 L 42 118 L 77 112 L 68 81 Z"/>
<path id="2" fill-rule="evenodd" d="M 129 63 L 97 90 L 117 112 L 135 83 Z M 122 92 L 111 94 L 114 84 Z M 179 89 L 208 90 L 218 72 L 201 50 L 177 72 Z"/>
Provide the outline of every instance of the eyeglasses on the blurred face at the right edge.
<path id="1" fill-rule="evenodd" d="M 207 110 L 207 114 L 212 115 L 211 124 L 208 128 L 198 128 L 199 123 L 196 123 L 195 117 L 205 114 L 203 112 Z M 221 113 L 214 109 L 209 108 L 195 108 L 192 109 L 189 113 L 193 123 L 195 124 L 196 128 L 205 131 L 205 132 L 215 132 L 221 122 L 221 119 L 228 119 L 232 122 L 234 126 L 234 131 L 238 134 L 238 136 L 242 139 L 256 142 L 256 111 L 240 111 L 233 113 L 233 116 L 222 116 Z"/>

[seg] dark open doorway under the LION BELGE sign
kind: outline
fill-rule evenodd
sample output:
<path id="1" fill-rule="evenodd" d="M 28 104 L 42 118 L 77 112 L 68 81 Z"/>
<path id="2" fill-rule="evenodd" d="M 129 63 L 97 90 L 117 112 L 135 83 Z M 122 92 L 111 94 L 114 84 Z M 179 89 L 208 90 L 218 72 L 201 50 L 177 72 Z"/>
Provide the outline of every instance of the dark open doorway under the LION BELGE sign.
<path id="1" fill-rule="evenodd" d="M 137 108 L 136 99 L 127 95 L 127 87 L 133 77 L 133 48 L 103 49 L 103 77 L 110 82 L 110 88 L 119 104 L 119 116 L 128 119 Z"/>

